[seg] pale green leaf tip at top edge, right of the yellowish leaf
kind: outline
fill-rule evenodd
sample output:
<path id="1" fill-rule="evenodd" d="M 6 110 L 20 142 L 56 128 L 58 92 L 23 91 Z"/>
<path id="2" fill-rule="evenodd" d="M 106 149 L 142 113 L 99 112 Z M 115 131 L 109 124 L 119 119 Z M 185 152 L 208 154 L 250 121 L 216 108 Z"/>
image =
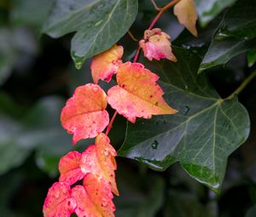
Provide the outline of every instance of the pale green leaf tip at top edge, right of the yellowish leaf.
<path id="1" fill-rule="evenodd" d="M 236 0 L 195 0 L 201 26 L 207 26 L 223 9 L 235 2 Z"/>

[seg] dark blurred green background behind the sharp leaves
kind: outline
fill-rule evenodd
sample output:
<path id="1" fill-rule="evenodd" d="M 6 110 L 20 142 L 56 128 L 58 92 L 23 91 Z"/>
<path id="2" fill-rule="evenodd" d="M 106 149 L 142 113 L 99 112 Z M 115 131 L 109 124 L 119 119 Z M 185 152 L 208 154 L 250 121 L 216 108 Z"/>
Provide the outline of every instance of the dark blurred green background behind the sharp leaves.
<path id="1" fill-rule="evenodd" d="M 0 0 L 0 216 L 42 216 L 44 197 L 57 180 L 61 156 L 84 150 L 93 140 L 73 146 L 61 128 L 60 112 L 73 90 L 90 83 L 90 60 L 80 71 L 70 57 L 72 35 L 52 39 L 40 28 L 53 1 Z M 167 1 L 162 1 L 167 2 Z M 140 1 L 131 31 L 137 38 L 155 15 L 150 1 Z M 216 21 L 217 20 L 217 21 Z M 170 33 L 173 44 L 187 44 L 204 54 L 218 17 L 194 39 L 177 24 L 171 13 L 159 26 Z M 183 31 L 182 34 L 180 34 Z M 199 46 L 203 42 L 203 46 Z M 137 49 L 128 35 L 120 41 L 125 60 Z M 255 66 L 254 66 L 255 68 Z M 247 77 L 246 54 L 210 71 L 210 81 L 227 96 Z M 103 89 L 108 85 L 101 83 Z M 256 216 L 256 81 L 239 96 L 249 111 L 252 130 L 246 144 L 228 163 L 219 195 L 186 174 L 175 163 L 155 172 L 142 163 L 117 157 L 120 197 L 114 199 L 117 217 L 253 217 Z M 110 113 L 113 112 L 109 109 Z M 125 118 L 118 117 L 110 138 L 118 149 L 125 137 Z"/>

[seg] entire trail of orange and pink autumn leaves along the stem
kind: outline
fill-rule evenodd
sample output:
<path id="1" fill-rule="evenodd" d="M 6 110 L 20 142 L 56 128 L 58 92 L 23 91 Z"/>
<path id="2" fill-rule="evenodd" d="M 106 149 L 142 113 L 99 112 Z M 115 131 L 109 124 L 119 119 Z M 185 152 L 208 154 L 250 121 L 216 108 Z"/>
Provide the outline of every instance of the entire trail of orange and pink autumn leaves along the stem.
<path id="1" fill-rule="evenodd" d="M 190 4 L 191 1 L 182 0 L 174 11 L 180 22 L 196 35 L 195 14 Z M 181 11 L 187 13 L 185 17 Z M 148 60 L 177 61 L 170 39 L 159 28 L 146 30 L 139 46 Z M 117 153 L 108 138 L 112 124 L 106 110 L 108 104 L 131 123 L 135 123 L 137 117 L 177 113 L 163 98 L 164 91 L 156 83 L 159 76 L 140 63 L 123 63 L 123 53 L 122 46 L 113 45 L 97 54 L 90 66 L 95 84 L 78 87 L 61 111 L 61 124 L 68 134 L 73 134 L 73 144 L 95 137 L 96 141 L 82 153 L 71 151 L 61 157 L 59 182 L 49 188 L 44 217 L 64 217 L 73 213 L 79 217 L 114 216 L 113 193 L 119 195 L 114 174 Z M 96 83 L 100 79 L 109 82 L 114 74 L 117 85 L 106 94 Z M 103 134 L 107 126 L 107 133 Z M 83 185 L 77 184 L 80 180 Z"/>

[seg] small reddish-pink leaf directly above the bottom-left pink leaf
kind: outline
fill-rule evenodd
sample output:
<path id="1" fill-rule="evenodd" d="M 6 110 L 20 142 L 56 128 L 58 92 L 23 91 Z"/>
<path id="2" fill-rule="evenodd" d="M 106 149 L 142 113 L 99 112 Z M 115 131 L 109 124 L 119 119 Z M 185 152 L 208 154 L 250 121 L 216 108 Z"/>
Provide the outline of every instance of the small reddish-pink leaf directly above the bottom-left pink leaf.
<path id="1" fill-rule="evenodd" d="M 70 151 L 64 157 L 61 157 L 59 163 L 60 179 L 61 182 L 66 182 L 70 186 L 78 180 L 84 178 L 84 173 L 80 168 L 81 154 L 78 151 Z"/>

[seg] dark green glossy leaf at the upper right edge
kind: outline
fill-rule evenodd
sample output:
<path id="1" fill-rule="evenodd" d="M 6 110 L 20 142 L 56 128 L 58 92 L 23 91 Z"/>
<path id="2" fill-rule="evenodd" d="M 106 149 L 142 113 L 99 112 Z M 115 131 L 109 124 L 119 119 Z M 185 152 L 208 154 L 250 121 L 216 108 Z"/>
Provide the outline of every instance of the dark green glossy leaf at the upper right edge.
<path id="1" fill-rule="evenodd" d="M 256 3 L 239 1 L 224 15 L 199 72 L 227 63 L 256 46 Z"/>

